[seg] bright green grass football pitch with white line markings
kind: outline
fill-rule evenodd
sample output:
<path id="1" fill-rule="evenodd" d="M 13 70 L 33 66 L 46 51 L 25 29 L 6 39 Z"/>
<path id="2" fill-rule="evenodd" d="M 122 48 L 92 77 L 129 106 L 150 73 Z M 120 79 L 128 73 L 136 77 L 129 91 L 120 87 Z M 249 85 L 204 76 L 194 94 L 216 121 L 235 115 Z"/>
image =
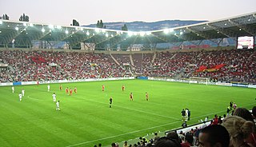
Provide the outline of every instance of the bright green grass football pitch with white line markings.
<path id="1" fill-rule="evenodd" d="M 102 92 L 102 85 L 106 86 Z M 122 92 L 122 85 L 126 86 Z M 68 96 L 66 87 L 78 88 Z M 251 109 L 256 89 L 194 85 L 166 81 L 92 81 L 0 87 L 1 146 L 103 146 L 182 125 L 181 110 L 189 108 L 192 125 L 206 116 L 223 115 L 230 101 Z M 18 93 L 25 89 L 19 101 Z M 56 93 L 61 111 L 56 111 Z M 134 101 L 129 94 L 134 93 Z M 149 93 L 146 101 L 145 93 Z M 112 108 L 109 98 L 113 97 Z"/>

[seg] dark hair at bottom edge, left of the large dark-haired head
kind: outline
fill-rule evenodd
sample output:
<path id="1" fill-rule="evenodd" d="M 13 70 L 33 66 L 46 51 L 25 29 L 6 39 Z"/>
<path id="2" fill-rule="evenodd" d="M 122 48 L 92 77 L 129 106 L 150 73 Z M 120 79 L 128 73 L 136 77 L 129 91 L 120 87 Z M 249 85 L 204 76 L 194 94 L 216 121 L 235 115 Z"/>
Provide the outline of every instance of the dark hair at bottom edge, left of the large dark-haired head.
<path id="1" fill-rule="evenodd" d="M 181 147 L 181 144 L 174 140 L 167 137 L 161 137 L 155 143 L 154 147 Z"/>

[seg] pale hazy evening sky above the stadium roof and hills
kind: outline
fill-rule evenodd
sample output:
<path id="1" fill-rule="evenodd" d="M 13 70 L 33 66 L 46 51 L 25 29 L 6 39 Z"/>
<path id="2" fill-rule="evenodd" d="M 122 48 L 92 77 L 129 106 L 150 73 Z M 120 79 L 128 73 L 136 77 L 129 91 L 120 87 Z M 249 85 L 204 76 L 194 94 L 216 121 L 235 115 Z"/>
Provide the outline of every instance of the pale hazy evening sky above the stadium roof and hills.
<path id="1" fill-rule="evenodd" d="M 157 22 L 162 20 L 213 21 L 256 12 L 256 0 L 0 0 L 0 15 L 18 21 L 80 26 L 103 22 Z"/>

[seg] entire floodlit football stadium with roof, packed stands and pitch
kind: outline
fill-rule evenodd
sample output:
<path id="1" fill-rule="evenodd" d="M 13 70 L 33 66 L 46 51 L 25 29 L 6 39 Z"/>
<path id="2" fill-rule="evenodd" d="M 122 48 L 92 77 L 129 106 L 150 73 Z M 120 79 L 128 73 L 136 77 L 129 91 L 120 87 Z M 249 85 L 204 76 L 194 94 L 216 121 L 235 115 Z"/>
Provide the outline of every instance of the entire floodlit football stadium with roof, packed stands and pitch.
<path id="1" fill-rule="evenodd" d="M 255 36 L 256 12 L 139 32 L 0 19 L 0 145 L 198 146 L 254 112 Z"/>

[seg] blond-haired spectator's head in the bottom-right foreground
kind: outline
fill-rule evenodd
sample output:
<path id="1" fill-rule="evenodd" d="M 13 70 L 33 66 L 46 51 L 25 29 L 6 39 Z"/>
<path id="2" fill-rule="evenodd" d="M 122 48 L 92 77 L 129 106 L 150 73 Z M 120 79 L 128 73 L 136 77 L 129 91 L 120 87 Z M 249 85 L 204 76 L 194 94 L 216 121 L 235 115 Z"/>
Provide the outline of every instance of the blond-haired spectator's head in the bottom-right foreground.
<path id="1" fill-rule="evenodd" d="M 222 125 L 230 133 L 230 145 L 234 147 L 249 146 L 245 139 L 253 133 L 254 123 L 246 121 L 242 117 L 230 116 L 223 120 Z"/>

